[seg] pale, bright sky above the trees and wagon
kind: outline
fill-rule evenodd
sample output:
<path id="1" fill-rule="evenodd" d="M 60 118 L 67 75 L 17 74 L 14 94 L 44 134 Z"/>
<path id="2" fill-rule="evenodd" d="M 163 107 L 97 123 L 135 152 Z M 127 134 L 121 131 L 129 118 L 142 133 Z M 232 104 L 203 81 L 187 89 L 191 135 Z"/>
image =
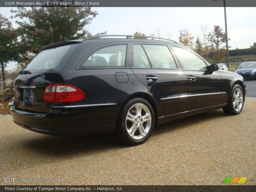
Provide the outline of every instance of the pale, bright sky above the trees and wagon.
<path id="1" fill-rule="evenodd" d="M 1 7 L 0 12 L 11 17 L 11 9 Z M 214 25 L 225 31 L 223 7 L 93 7 L 99 14 L 86 28 L 92 33 L 107 31 L 108 35 L 132 35 L 139 31 L 146 35 L 158 34 L 163 38 L 179 41 L 180 30 L 187 29 L 195 40 L 202 41 L 200 26 Z M 256 7 L 227 7 L 228 42 L 231 49 L 249 48 L 256 42 Z M 10 19 L 11 20 L 11 19 Z M 14 28 L 18 25 L 12 19 Z M 6 70 L 15 66 L 7 64 Z"/>

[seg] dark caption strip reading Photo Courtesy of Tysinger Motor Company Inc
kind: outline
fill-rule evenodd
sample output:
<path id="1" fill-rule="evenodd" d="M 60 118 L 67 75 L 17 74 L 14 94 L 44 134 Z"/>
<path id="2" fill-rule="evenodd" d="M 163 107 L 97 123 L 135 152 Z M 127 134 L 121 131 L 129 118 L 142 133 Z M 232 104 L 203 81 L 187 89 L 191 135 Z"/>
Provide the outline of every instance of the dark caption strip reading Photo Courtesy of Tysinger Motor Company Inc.
<path id="1" fill-rule="evenodd" d="M 180 186 L 166 186 L 166 185 L 105 185 L 105 186 L 96 186 L 96 185 L 55 185 L 55 186 L 44 186 L 44 185 L 6 185 L 0 186 L 1 192 L 255 192 L 256 186 L 250 185 L 202 185 L 202 186 L 193 186 L 193 185 L 180 185 Z"/>

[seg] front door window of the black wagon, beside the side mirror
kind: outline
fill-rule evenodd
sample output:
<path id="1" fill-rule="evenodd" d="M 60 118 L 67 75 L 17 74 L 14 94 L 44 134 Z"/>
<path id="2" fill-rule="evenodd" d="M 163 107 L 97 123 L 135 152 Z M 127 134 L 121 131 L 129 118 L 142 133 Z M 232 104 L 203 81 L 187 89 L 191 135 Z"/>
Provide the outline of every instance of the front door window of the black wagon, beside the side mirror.
<path id="1" fill-rule="evenodd" d="M 207 71 L 206 63 L 193 52 L 181 47 L 172 46 L 172 49 L 175 55 L 180 59 L 183 69 Z"/>

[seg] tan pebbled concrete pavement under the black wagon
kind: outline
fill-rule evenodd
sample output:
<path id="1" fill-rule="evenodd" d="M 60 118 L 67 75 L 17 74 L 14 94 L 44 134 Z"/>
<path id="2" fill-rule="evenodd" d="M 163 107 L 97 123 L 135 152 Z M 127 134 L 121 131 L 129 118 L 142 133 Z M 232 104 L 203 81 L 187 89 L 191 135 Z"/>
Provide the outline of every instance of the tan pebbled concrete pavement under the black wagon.
<path id="1" fill-rule="evenodd" d="M 159 125 L 143 145 L 112 134 L 55 137 L 0 117 L 0 185 L 6 177 L 62 179 L 60 185 L 221 185 L 248 177 L 256 185 L 256 100 L 227 116 L 215 110 Z M 40 182 L 34 184 L 47 185 Z"/>

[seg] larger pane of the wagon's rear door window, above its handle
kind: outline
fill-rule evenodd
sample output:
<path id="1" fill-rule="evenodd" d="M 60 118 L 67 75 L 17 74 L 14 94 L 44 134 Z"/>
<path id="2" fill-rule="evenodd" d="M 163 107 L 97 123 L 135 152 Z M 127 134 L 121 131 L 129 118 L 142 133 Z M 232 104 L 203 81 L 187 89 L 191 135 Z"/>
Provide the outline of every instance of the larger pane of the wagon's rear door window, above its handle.
<path id="1" fill-rule="evenodd" d="M 176 69 L 175 60 L 166 45 L 143 44 L 152 68 L 172 68 Z"/>

